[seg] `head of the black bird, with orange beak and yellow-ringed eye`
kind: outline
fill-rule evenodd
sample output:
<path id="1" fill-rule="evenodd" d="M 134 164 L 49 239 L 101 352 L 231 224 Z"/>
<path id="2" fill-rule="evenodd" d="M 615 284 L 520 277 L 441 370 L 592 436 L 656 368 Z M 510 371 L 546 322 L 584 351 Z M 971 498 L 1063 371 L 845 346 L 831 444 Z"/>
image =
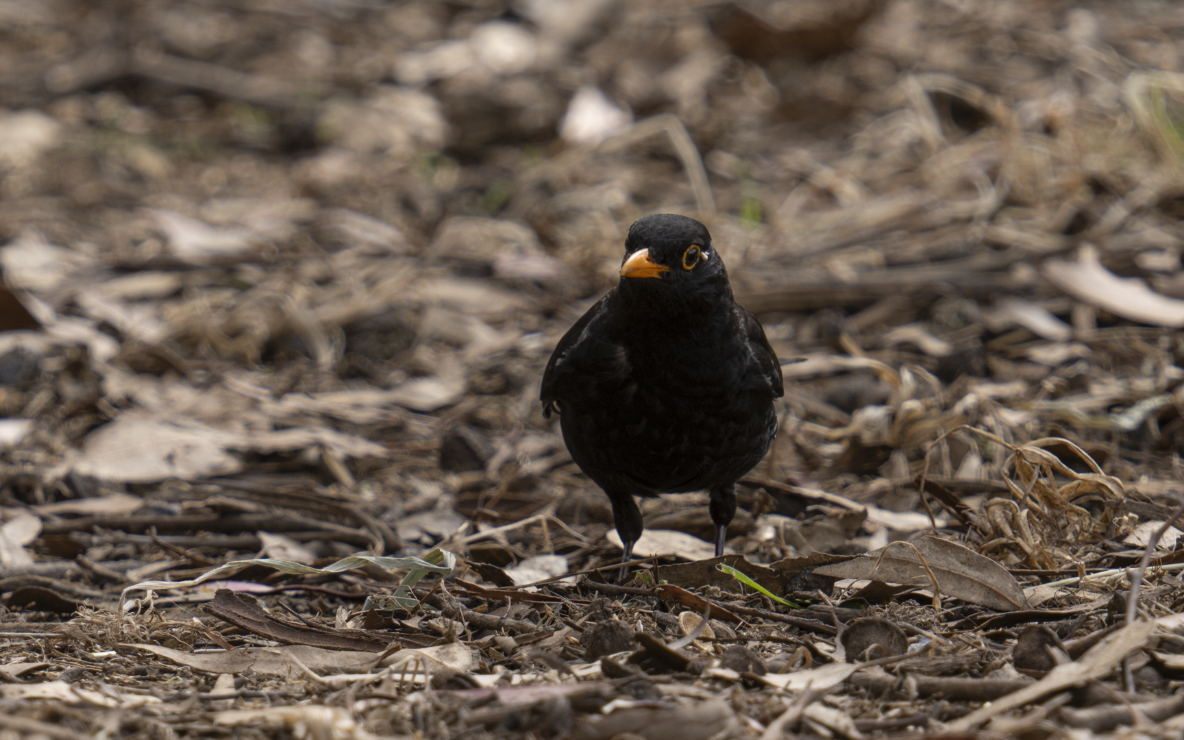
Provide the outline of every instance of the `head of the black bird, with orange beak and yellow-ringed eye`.
<path id="1" fill-rule="evenodd" d="M 707 227 L 673 213 L 646 215 L 629 227 L 620 278 L 622 288 L 654 297 L 712 300 L 729 294 L 727 271 Z"/>

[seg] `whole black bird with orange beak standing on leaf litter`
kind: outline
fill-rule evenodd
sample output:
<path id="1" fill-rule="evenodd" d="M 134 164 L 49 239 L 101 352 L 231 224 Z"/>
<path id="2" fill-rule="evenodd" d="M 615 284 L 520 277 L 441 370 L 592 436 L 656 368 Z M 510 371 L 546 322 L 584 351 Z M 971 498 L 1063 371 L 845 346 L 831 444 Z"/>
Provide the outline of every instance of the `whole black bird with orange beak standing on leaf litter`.
<path id="1" fill-rule="evenodd" d="M 773 443 L 780 395 L 777 355 L 732 300 L 707 227 L 663 213 L 629 229 L 620 283 L 559 340 L 541 400 L 609 495 L 628 562 L 643 529 L 633 496 L 696 490 L 723 554 L 735 482 Z"/>

